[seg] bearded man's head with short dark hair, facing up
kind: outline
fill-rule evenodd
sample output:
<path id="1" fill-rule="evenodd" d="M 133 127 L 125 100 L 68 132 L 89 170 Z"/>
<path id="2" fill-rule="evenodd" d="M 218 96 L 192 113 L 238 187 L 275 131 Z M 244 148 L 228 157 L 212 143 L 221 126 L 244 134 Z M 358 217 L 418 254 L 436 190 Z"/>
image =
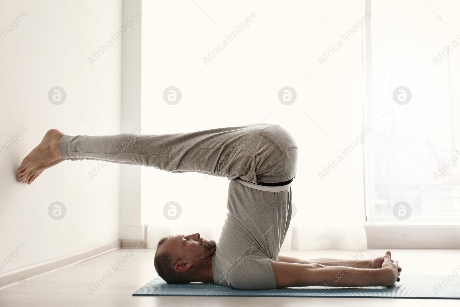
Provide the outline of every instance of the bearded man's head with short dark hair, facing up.
<path id="1" fill-rule="evenodd" d="M 162 237 L 156 247 L 155 270 L 169 284 L 197 281 L 215 251 L 216 241 L 207 241 L 199 233 Z"/>

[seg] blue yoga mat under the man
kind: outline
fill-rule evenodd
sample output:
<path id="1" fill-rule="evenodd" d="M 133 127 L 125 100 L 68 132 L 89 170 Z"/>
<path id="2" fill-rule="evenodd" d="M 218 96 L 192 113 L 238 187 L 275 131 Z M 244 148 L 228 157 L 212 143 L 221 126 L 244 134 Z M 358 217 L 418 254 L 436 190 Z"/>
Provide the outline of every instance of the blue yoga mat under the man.
<path id="1" fill-rule="evenodd" d="M 135 296 L 292 296 L 292 297 L 374 297 L 374 298 L 448 298 L 460 299 L 460 277 L 449 284 L 444 275 L 401 275 L 401 281 L 391 287 L 293 287 L 274 290 L 236 290 L 216 284 L 167 284 L 155 277 Z M 444 282 L 444 285 L 442 284 Z M 438 285 L 441 283 L 441 286 Z M 436 290 L 437 289 L 437 290 Z"/>

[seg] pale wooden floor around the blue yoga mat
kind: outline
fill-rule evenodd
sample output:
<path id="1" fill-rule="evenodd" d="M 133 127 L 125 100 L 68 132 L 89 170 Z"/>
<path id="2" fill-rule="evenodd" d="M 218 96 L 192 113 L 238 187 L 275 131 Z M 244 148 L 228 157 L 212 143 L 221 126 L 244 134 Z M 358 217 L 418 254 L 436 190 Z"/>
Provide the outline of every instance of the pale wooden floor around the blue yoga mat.
<path id="1" fill-rule="evenodd" d="M 374 298 L 296 298 L 296 297 L 154 297 L 132 296 L 132 293 L 155 278 L 155 250 L 140 249 L 116 272 L 111 267 L 127 255 L 127 249 L 78 263 L 41 277 L 0 290 L 1 307 L 87 307 L 87 306 L 353 306 L 353 307 L 435 307 L 460 306 L 460 300 L 374 299 Z M 329 254 L 329 252 L 332 254 Z M 393 259 L 403 267 L 403 274 L 451 274 L 460 266 L 460 249 L 393 249 Z M 333 257 L 351 259 L 356 252 L 344 250 L 282 252 L 302 259 Z M 385 250 L 370 249 L 365 258 L 384 255 Z M 128 256 L 130 256 L 128 254 Z M 108 271 L 114 272 L 101 287 L 90 294 L 88 287 Z M 458 271 L 458 269 L 457 269 Z M 107 278 L 105 278 L 107 279 Z M 460 290 L 459 290 L 460 291 Z"/>

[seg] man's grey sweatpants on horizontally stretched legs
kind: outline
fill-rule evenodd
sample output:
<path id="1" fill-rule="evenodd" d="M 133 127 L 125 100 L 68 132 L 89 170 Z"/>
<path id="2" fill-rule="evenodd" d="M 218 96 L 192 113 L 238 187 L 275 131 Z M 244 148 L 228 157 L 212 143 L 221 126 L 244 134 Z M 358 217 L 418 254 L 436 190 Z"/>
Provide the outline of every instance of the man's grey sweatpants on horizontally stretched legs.
<path id="1" fill-rule="evenodd" d="M 279 125 L 258 123 L 171 134 L 64 135 L 64 159 L 136 164 L 257 184 L 296 176 L 297 144 Z"/>

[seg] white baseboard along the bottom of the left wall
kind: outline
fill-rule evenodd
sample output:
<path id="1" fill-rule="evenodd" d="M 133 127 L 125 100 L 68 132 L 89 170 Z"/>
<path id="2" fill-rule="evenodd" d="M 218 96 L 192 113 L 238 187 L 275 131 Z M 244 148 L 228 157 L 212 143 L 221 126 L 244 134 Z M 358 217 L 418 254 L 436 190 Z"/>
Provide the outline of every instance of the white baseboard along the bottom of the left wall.
<path id="1" fill-rule="evenodd" d="M 120 240 L 96 246 L 96 249 L 86 249 L 69 255 L 57 257 L 48 261 L 43 261 L 30 266 L 23 266 L 12 271 L 0 273 L 0 289 L 4 289 L 21 283 L 23 281 L 36 278 L 67 266 L 86 261 L 88 259 L 106 254 L 121 246 Z"/>

